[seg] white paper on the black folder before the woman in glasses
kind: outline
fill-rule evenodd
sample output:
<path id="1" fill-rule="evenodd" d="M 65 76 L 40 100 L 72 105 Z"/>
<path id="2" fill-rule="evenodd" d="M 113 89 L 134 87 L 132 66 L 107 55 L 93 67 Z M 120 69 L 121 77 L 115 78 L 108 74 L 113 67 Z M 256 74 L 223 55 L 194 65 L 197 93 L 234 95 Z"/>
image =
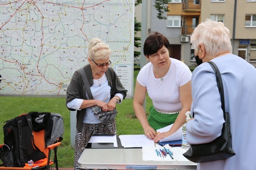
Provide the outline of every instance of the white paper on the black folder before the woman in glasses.
<path id="1" fill-rule="evenodd" d="M 88 143 L 114 143 L 118 147 L 117 135 L 93 135 Z"/>

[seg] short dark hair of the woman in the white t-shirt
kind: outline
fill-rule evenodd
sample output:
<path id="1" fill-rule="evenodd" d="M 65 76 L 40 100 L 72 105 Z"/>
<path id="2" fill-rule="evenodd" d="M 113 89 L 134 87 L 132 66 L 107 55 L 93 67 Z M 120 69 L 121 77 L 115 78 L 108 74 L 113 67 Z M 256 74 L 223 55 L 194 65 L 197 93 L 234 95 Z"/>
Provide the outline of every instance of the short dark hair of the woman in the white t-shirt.
<path id="1" fill-rule="evenodd" d="M 168 39 L 162 35 L 161 33 L 156 32 L 149 32 L 148 37 L 145 40 L 143 53 L 144 55 L 152 55 L 156 53 L 159 49 L 165 46 L 169 50 L 169 41 Z"/>

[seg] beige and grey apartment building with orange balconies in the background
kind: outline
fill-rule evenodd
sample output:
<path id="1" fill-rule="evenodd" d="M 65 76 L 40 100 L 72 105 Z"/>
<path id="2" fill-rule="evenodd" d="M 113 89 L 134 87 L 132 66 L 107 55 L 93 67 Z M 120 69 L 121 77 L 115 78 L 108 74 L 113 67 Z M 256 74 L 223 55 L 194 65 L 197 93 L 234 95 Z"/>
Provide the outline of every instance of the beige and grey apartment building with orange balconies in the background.
<path id="1" fill-rule="evenodd" d="M 148 1 L 148 6 L 148 31 L 168 38 L 172 58 L 195 65 L 190 35 L 200 22 L 210 18 L 230 29 L 232 53 L 256 67 L 256 0 L 170 0 L 169 12 L 164 14 L 167 20 L 157 18 L 154 0 Z M 135 13 L 138 16 L 136 8 Z"/>

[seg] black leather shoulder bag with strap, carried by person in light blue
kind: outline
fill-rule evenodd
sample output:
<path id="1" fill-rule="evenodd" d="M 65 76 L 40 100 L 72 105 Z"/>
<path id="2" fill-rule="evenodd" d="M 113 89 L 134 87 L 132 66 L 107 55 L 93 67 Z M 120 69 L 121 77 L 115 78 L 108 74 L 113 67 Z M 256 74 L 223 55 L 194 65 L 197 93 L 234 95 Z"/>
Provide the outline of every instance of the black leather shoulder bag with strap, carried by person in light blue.
<path id="1" fill-rule="evenodd" d="M 189 161 L 195 163 L 217 161 L 236 155 L 232 149 L 232 134 L 230 132 L 229 113 L 225 112 L 224 91 L 221 74 L 214 62 L 210 61 L 208 63 L 211 65 L 216 74 L 217 86 L 221 95 L 221 108 L 223 110 L 225 122 L 223 124 L 221 136 L 217 137 L 210 143 L 191 144 L 189 150 L 183 154 L 184 157 L 186 157 Z"/>

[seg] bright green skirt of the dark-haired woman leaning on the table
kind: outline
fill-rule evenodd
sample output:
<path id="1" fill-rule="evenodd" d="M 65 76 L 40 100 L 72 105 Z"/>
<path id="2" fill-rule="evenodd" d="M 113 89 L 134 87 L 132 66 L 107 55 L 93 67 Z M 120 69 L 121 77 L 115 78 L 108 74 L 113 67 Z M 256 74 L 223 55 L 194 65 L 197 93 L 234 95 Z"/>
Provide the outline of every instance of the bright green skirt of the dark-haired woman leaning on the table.
<path id="1" fill-rule="evenodd" d="M 155 110 L 154 106 L 149 109 L 148 123 L 154 130 L 161 129 L 165 126 L 173 124 L 179 113 L 163 114 Z"/>

